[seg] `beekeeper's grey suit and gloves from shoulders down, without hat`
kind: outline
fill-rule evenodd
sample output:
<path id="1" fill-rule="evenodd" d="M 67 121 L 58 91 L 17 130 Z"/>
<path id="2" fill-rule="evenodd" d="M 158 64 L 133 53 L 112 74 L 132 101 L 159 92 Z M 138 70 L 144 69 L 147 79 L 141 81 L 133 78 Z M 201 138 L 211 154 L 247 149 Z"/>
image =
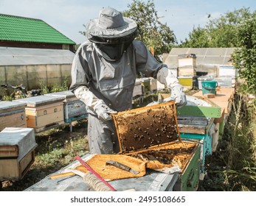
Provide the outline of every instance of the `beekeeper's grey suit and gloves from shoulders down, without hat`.
<path id="1" fill-rule="evenodd" d="M 89 110 L 91 154 L 120 152 L 114 121 L 108 121 L 111 120 L 109 113 L 131 109 L 138 72 L 158 79 L 172 90 L 176 102 L 184 104 L 184 93 L 178 79 L 166 65 L 156 61 L 141 41 L 134 40 L 117 61 L 105 60 L 91 42 L 83 43 L 77 50 L 72 64 L 70 90 Z"/>

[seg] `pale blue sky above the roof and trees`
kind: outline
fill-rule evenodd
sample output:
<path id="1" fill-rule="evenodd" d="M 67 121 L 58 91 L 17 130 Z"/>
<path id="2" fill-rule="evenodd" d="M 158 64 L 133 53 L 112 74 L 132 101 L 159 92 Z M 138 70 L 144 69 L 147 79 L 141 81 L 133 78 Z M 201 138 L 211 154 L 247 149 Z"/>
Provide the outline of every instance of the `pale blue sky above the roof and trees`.
<path id="1" fill-rule="evenodd" d="M 38 18 L 57 29 L 63 35 L 83 43 L 80 32 L 90 19 L 97 18 L 103 7 L 128 10 L 132 0 L 0 0 L 0 13 Z M 148 2 L 146 0 L 145 2 Z M 178 42 L 188 38 L 193 27 L 205 26 L 210 19 L 225 13 L 249 7 L 256 10 L 256 0 L 153 0 L 162 24 L 167 24 Z M 208 18 L 210 15 L 210 18 Z"/>

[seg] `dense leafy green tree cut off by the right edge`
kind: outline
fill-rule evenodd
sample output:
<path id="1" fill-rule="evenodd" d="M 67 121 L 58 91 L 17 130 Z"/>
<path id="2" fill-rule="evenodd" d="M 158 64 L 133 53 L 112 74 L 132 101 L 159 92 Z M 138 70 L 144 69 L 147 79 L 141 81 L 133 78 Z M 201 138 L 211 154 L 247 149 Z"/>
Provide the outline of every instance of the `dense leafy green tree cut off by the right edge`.
<path id="1" fill-rule="evenodd" d="M 235 68 L 246 80 L 248 91 L 256 93 L 256 12 L 238 27 L 237 42 L 239 49 L 232 54 Z"/>

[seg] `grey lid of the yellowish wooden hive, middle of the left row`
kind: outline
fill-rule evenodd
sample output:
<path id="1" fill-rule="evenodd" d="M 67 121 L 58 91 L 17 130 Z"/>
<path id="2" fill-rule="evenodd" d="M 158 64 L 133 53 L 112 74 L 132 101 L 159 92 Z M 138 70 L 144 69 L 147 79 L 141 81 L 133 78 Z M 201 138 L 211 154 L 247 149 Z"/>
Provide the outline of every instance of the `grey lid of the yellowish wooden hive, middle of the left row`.
<path id="1" fill-rule="evenodd" d="M 64 96 L 32 96 L 24 99 L 17 99 L 13 102 L 24 102 L 27 103 L 27 107 L 38 107 L 45 104 L 52 104 L 55 102 L 63 102 Z"/>

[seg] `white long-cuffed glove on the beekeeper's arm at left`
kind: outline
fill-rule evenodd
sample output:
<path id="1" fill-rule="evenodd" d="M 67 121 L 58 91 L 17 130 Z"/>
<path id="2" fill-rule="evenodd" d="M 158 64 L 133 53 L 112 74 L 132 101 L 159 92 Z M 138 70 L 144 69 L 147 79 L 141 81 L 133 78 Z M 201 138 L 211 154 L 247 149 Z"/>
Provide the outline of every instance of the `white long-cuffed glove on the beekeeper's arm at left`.
<path id="1" fill-rule="evenodd" d="M 86 88 L 86 86 L 77 88 L 74 93 L 77 99 L 80 99 L 83 101 L 83 103 L 86 104 L 87 107 L 90 107 L 91 110 L 94 110 L 98 118 L 103 121 L 111 120 L 112 116 L 110 114 L 117 113 L 116 111 L 111 110 L 111 108 L 109 108 L 102 99 L 98 99 L 97 96 L 95 96 L 88 88 Z"/>

